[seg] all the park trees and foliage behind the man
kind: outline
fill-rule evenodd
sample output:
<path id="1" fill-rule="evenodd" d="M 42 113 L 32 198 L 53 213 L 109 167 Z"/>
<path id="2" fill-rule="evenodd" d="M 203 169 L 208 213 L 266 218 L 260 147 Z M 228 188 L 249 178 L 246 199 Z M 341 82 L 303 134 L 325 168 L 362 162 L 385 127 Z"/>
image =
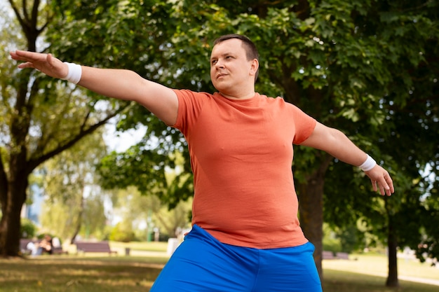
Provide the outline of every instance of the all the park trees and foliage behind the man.
<path id="1" fill-rule="evenodd" d="M 345 132 L 396 185 L 395 195 L 381 197 L 356 167 L 295 147 L 299 215 L 321 277 L 323 250 L 368 249 L 386 254 L 385 284 L 398 286 L 398 251 L 408 247 L 428 263 L 439 253 L 438 5 L 1 1 L 0 254 L 20 254 L 20 226 L 32 235 L 20 215 L 33 192 L 45 199 L 36 232 L 63 242 L 148 241 L 158 227 L 174 237 L 187 227 L 192 194 L 179 132 L 133 103 L 18 70 L 9 51 L 50 52 L 212 92 L 212 41 L 240 33 L 259 48 L 257 91 Z M 106 144 L 108 123 L 144 134 L 116 151 Z"/>

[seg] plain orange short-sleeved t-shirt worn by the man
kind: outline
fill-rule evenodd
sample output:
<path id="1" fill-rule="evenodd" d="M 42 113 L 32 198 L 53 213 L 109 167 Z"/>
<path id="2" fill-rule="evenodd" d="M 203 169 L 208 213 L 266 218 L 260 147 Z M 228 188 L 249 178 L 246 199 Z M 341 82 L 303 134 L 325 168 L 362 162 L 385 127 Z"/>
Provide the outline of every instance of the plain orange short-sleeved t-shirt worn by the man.
<path id="1" fill-rule="evenodd" d="M 297 218 L 292 144 L 316 120 L 281 97 L 232 100 L 175 90 L 177 122 L 194 172 L 192 224 L 225 244 L 273 249 L 305 244 Z"/>

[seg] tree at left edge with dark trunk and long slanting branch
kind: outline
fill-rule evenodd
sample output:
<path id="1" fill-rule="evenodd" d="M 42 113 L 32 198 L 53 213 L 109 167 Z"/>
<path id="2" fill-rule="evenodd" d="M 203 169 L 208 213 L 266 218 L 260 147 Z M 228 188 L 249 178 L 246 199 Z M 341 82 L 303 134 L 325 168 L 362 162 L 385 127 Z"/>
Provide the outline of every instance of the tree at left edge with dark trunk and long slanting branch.
<path id="1" fill-rule="evenodd" d="M 39 0 L 22 2 L 24 7 L 18 1 L 9 0 L 9 4 L 15 20 L 10 20 L 8 29 L 2 29 L 1 33 L 15 34 L 16 39 L 7 37 L 9 43 L 2 43 L 5 50 L 1 54 L 15 46 L 31 51 L 37 50 L 37 44 L 45 46 L 39 37 L 56 15 Z M 18 41 L 13 43 L 14 40 Z M 14 62 L 6 55 L 1 60 L 4 61 L 0 78 L 0 255 L 17 256 L 20 211 L 27 197 L 29 175 L 41 163 L 123 112 L 128 104 L 89 99 L 83 91 L 65 82 L 50 80 L 36 71 L 14 69 Z"/>

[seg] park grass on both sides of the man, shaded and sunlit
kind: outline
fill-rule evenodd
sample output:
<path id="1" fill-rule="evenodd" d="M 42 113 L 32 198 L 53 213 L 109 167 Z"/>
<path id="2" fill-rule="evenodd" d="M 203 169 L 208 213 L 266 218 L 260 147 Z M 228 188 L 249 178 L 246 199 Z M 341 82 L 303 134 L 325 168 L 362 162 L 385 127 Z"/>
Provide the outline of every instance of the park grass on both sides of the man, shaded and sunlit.
<path id="1" fill-rule="evenodd" d="M 112 248 L 124 249 L 122 244 Z M 134 248 L 133 246 L 130 246 Z M 161 256 L 39 256 L 0 259 L 0 292 L 147 292 L 168 260 L 166 244 L 137 246 Z M 154 253 L 155 254 L 155 253 Z M 439 286 L 400 280 L 386 288 L 386 278 L 360 272 L 386 272 L 384 256 L 357 256 L 358 260 L 325 260 L 324 292 L 437 292 Z M 407 271 L 405 271 L 407 269 Z M 350 272 L 346 271 L 349 270 Z M 439 279 L 438 269 L 414 261 L 400 263 L 403 273 Z M 352 272 L 358 271 L 358 272 Z M 427 278 L 428 278 L 427 277 Z M 269 292 L 269 291 L 267 291 Z"/>

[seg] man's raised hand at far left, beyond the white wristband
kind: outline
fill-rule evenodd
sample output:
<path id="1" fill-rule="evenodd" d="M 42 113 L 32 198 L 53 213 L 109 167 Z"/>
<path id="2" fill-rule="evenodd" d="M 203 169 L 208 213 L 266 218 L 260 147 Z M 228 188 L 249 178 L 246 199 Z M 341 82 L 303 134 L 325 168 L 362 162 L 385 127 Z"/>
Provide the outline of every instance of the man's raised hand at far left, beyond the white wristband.
<path id="1" fill-rule="evenodd" d="M 54 78 L 65 78 L 69 73 L 67 64 L 51 54 L 33 53 L 25 50 L 16 50 L 10 54 L 13 60 L 25 62 L 18 65 L 20 69 L 34 68 Z"/>

